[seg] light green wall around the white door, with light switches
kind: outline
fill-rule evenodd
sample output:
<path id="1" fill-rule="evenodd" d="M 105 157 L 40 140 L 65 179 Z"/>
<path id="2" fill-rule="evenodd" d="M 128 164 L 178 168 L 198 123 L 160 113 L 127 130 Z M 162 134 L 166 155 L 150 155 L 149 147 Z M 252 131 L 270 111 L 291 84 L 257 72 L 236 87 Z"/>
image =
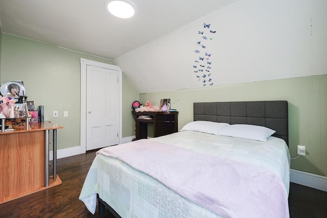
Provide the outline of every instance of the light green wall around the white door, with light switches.
<path id="1" fill-rule="evenodd" d="M 27 100 L 34 101 L 36 107 L 44 105 L 44 120 L 64 127 L 57 132 L 58 150 L 80 146 L 80 58 L 116 64 L 112 60 L 5 33 L 2 34 L 1 44 L 0 83 L 23 81 Z M 128 116 L 131 99 L 138 99 L 138 94 L 124 75 L 122 84 L 125 137 L 134 134 Z M 129 92 L 133 94 L 129 96 Z M 59 112 L 59 117 L 53 117 L 54 110 Z M 63 117 L 63 111 L 68 111 L 68 117 Z"/>

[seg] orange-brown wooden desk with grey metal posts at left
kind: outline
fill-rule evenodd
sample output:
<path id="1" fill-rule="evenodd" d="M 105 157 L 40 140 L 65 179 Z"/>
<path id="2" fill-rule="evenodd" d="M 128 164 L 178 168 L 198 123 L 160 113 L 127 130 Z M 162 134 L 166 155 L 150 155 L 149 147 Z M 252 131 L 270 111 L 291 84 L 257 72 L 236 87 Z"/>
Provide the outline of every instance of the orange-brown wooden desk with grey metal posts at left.
<path id="1" fill-rule="evenodd" d="M 50 122 L 29 130 L 0 132 L 0 204 L 61 184 L 56 172 L 57 129 Z M 49 175 L 49 131 L 53 131 L 53 176 Z M 51 180 L 51 182 L 50 182 Z"/>

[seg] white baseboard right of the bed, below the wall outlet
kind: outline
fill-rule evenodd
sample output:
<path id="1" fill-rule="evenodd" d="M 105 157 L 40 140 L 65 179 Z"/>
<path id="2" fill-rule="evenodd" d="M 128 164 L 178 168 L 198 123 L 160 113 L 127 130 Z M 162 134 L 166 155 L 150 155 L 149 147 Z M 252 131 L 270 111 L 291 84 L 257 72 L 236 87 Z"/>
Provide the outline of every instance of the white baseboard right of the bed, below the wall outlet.
<path id="1" fill-rule="evenodd" d="M 327 191 L 327 177 L 291 169 L 290 182 Z"/>

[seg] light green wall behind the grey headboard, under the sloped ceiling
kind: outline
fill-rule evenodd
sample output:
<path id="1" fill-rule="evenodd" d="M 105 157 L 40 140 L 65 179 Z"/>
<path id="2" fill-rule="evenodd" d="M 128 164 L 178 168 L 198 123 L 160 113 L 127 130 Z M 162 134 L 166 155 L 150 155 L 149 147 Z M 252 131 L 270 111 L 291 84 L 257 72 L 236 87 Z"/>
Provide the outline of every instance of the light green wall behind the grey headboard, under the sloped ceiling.
<path id="1" fill-rule="evenodd" d="M 193 120 L 194 102 L 286 100 L 291 157 L 297 156 L 297 144 L 307 150 L 306 156 L 291 161 L 291 168 L 327 176 L 327 75 L 144 93 L 140 102 L 158 106 L 167 98 L 179 111 L 179 129 Z"/>

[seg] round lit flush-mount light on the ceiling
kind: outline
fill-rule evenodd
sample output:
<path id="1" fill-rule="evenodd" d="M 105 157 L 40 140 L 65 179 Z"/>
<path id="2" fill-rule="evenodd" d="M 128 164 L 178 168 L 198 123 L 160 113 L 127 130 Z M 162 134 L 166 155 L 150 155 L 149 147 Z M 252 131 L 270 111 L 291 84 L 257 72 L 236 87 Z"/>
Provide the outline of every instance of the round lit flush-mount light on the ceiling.
<path id="1" fill-rule="evenodd" d="M 130 18 L 134 15 L 134 8 L 123 1 L 112 1 L 107 4 L 107 10 L 114 16 L 120 18 Z"/>

